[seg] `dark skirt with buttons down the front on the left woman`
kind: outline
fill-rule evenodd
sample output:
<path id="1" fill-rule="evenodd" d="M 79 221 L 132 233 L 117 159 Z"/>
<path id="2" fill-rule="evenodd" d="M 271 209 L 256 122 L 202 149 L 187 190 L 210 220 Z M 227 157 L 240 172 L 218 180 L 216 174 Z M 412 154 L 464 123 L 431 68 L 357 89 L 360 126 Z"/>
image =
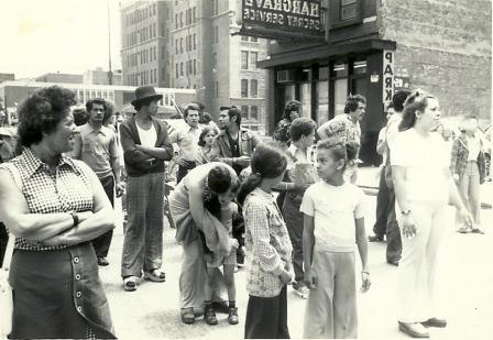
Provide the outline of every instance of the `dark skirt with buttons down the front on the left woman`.
<path id="1" fill-rule="evenodd" d="M 114 339 L 90 243 L 56 251 L 15 250 L 11 339 Z"/>

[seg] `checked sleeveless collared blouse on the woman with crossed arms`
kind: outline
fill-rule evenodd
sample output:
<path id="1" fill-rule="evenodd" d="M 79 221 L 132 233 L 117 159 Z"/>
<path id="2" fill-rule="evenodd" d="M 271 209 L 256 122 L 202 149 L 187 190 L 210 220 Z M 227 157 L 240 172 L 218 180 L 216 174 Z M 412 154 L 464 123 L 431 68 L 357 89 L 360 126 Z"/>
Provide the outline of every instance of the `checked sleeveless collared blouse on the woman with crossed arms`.
<path id="1" fill-rule="evenodd" d="M 19 169 L 22 194 L 31 213 L 54 213 L 92 210 L 90 168 L 80 161 L 62 155 L 53 171 L 41 162 L 30 149 L 11 161 Z M 24 250 L 56 250 L 66 245 L 44 246 L 22 238 L 15 239 L 15 248 Z"/>

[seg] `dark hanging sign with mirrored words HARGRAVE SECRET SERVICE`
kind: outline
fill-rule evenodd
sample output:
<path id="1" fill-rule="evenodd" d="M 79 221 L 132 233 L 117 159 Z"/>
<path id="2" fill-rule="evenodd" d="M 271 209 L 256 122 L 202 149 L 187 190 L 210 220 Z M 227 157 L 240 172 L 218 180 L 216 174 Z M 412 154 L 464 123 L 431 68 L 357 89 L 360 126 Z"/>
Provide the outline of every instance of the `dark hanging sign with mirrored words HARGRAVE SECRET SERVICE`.
<path id="1" fill-rule="evenodd" d="M 324 36 L 322 0 L 241 0 L 244 33 L 281 36 Z M 263 32 L 266 34 L 263 34 Z"/>

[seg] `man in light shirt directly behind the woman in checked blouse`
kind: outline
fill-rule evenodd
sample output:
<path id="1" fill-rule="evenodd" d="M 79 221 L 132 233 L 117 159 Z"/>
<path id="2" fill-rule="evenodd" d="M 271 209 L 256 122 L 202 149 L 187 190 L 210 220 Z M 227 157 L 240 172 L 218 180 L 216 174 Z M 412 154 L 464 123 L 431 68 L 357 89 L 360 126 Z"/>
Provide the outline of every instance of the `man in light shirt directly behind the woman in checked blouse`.
<path id="1" fill-rule="evenodd" d="M 120 183 L 120 163 L 117 134 L 112 129 L 102 125 L 107 111 L 107 103 L 102 98 L 90 99 L 86 102 L 89 120 L 79 127 L 80 133 L 75 135 L 73 157 L 86 163 L 98 176 L 99 182 L 114 207 L 114 191 L 117 197 L 123 194 Z M 99 265 L 108 265 L 113 230 L 109 230 L 92 241 Z"/>

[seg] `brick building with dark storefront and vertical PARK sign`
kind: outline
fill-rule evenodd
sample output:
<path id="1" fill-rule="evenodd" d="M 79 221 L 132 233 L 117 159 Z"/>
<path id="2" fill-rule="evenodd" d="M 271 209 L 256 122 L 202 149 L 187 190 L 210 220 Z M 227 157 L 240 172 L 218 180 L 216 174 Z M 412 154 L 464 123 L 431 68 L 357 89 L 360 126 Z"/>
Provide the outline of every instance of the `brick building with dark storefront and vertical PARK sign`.
<path id="1" fill-rule="evenodd" d="M 384 105 L 396 89 L 434 94 L 445 117 L 472 111 L 490 119 L 491 1 L 289 0 L 278 8 L 275 1 L 241 2 L 239 21 L 245 9 L 261 26 L 269 18 L 304 15 L 307 24 L 310 14 L 320 14 L 325 29 L 313 39 L 265 29 L 273 41 L 259 65 L 270 72 L 271 131 L 287 100 L 300 100 L 303 114 L 321 124 L 342 112 L 348 95 L 360 94 L 368 100 L 360 157 L 377 164 Z"/>

